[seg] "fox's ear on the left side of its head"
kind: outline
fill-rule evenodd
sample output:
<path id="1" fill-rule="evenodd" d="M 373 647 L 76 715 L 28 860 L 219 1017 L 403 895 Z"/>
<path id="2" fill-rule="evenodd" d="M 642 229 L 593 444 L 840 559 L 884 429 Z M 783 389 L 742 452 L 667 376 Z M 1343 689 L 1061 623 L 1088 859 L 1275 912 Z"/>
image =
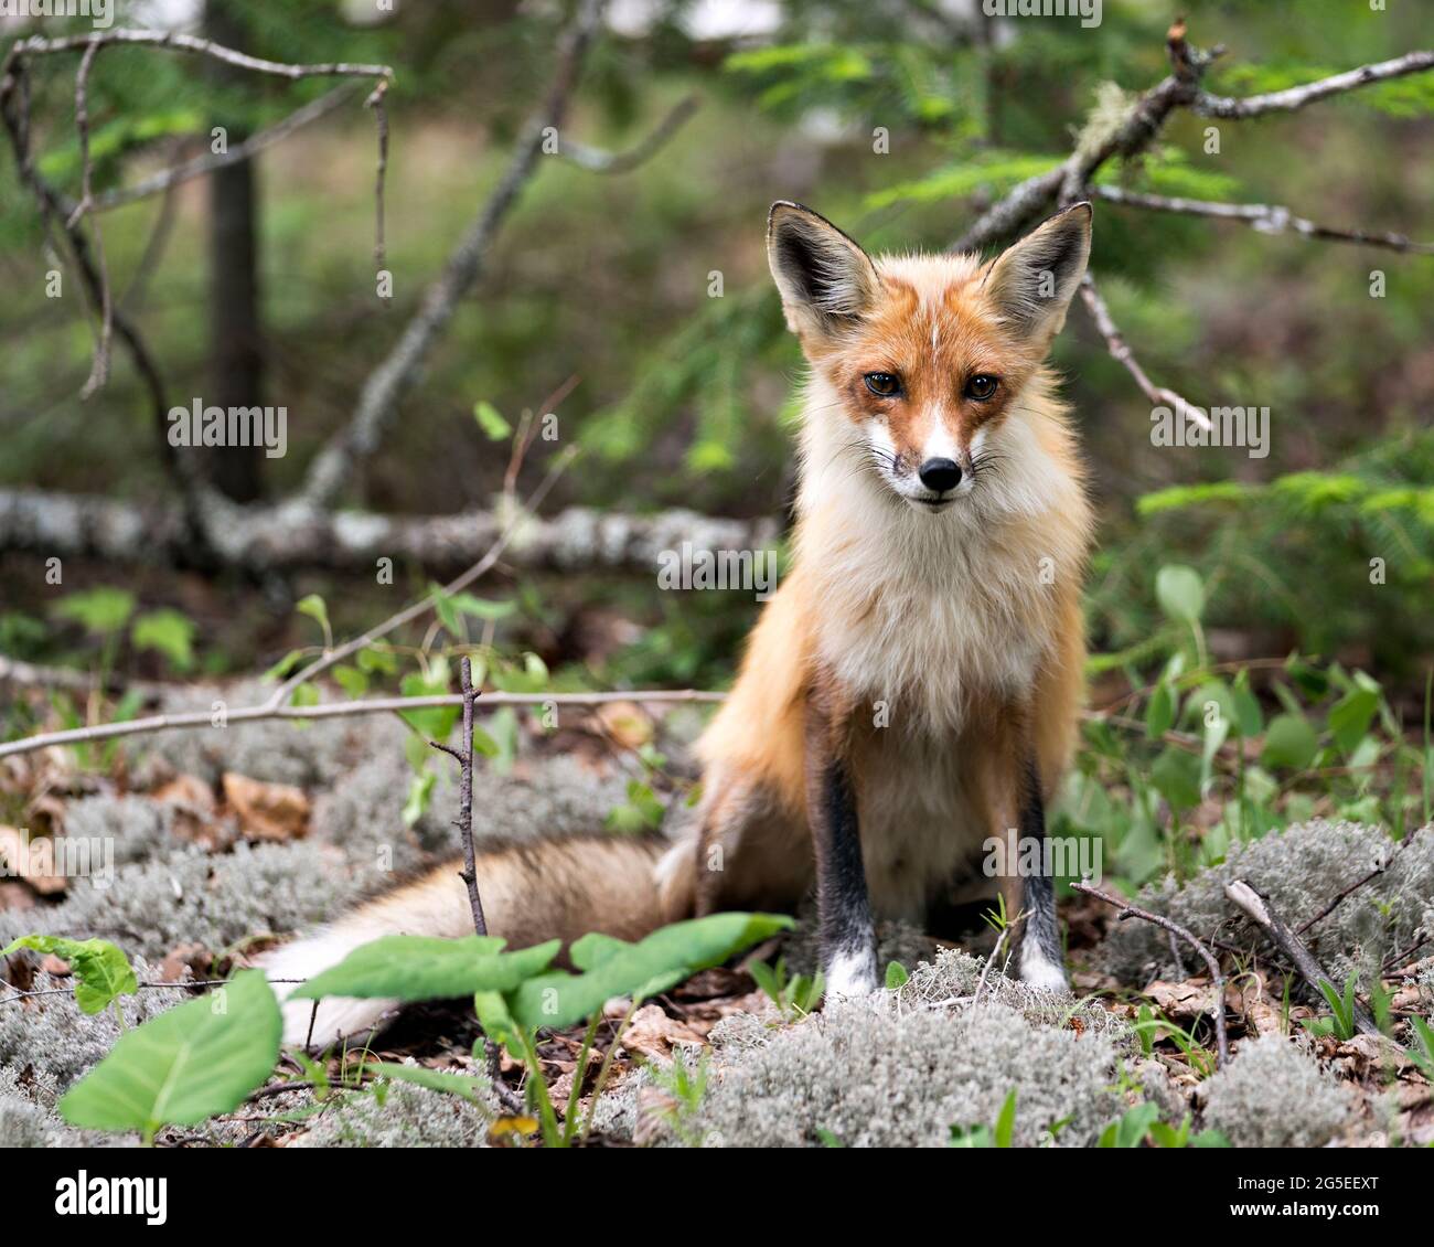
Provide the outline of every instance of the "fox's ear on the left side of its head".
<path id="1" fill-rule="evenodd" d="M 870 307 L 879 287 L 876 265 L 856 243 L 786 199 L 767 215 L 767 263 L 797 337 L 839 333 Z"/>

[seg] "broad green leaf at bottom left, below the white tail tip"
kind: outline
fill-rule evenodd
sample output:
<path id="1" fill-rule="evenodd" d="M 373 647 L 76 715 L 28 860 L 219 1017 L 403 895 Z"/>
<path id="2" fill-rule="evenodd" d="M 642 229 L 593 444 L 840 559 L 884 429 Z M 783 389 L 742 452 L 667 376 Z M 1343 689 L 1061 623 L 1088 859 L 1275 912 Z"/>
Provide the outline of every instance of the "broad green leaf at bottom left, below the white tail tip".
<path id="1" fill-rule="evenodd" d="M 142 1131 L 232 1112 L 278 1059 L 284 1023 L 261 970 L 119 1037 L 60 1104 L 70 1125 Z"/>

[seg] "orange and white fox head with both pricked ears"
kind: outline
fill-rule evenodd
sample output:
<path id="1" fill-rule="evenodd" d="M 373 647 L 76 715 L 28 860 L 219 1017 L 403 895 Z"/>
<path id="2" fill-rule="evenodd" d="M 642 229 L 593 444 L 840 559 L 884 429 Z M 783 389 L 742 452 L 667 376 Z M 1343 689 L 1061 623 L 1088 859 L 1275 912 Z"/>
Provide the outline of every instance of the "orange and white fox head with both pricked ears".
<path id="1" fill-rule="evenodd" d="M 1090 227 L 1090 204 L 1076 204 L 987 264 L 873 258 L 810 208 L 773 204 L 767 260 L 823 399 L 809 403 L 822 425 L 809 439 L 849 452 L 893 504 L 922 512 L 1010 485 L 1037 438 L 1030 408 Z"/>

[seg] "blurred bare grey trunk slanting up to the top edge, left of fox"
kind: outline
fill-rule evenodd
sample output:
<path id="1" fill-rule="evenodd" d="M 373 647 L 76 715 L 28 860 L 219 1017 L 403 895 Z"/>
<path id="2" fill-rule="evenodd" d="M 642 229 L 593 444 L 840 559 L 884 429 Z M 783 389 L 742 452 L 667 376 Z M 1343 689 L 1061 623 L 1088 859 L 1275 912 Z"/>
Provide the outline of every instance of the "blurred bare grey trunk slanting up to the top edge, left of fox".
<path id="1" fill-rule="evenodd" d="M 574 22 L 564 32 L 548 95 L 523 126 L 502 179 L 449 255 L 443 273 L 427 288 L 403 336 L 369 375 L 350 423 L 308 465 L 301 497 L 310 507 L 330 505 L 353 475 L 354 466 L 377 448 L 399 399 L 413 386 L 423 360 L 452 320 L 459 300 L 483 273 L 493 238 L 536 172 L 546 136 L 558 131 L 568 113 L 582 62 L 601 24 L 602 9 L 604 0 L 582 0 Z"/>

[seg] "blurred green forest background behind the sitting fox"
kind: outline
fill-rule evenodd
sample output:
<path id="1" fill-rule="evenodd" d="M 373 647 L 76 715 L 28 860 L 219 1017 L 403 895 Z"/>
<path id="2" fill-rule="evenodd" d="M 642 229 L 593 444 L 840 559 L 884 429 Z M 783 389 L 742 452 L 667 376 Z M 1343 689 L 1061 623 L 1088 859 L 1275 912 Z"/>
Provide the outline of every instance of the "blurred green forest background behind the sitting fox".
<path id="1" fill-rule="evenodd" d="M 282 458 L 179 451 L 205 463 L 209 488 L 264 507 L 303 488 L 350 426 L 376 364 L 490 202 L 554 88 L 571 6 L 116 9 L 116 26 L 202 33 L 277 62 L 394 70 L 383 100 L 393 296 L 380 298 L 371 79 L 285 80 L 156 47 L 109 47 L 93 63 L 96 197 L 202 158 L 212 126 L 232 143 L 347 92 L 252 161 L 98 215 L 115 307 L 142 333 L 168 405 L 287 408 Z M 690 508 L 780 525 L 800 359 L 766 271 L 770 201 L 806 202 L 869 250 L 948 247 L 1170 72 L 1166 32 L 1180 13 L 1192 43 L 1226 49 L 1205 75 L 1219 95 L 1314 80 L 1430 34 L 1428 9 L 1408 0 L 1106 0 L 1093 29 L 991 19 L 978 0 L 614 3 L 558 128 L 566 152 L 536 155 L 422 376 L 333 504 L 486 512 L 505 494 L 523 413 L 552 410 L 558 439 L 535 438 L 521 456 L 516 497 L 559 448 L 582 455 L 542 514 Z M 90 29 L 10 22 L 0 33 L 9 47 Z M 77 62 L 27 62 L 36 168 L 70 201 L 83 195 Z M 688 96 L 695 110 L 674 116 Z M 1411 75 L 1250 121 L 1176 110 L 1096 182 L 1430 241 L 1431 139 L 1434 73 Z M 604 152 L 634 159 L 584 168 Z M 0 171 L 0 654 L 98 673 L 105 690 L 11 680 L 4 739 L 139 713 L 126 682 L 255 674 L 313 646 L 318 626 L 354 636 L 476 557 L 430 545 L 427 560 L 399 558 L 389 585 L 371 557 L 265 565 L 251 551 L 227 565 L 198 542 L 109 548 L 133 517 L 175 507 L 184 482 L 123 343 L 108 383 L 80 397 L 96 317 L 57 263 L 63 222 L 46 225 L 13 151 Z M 1055 357 L 1103 527 L 1087 596 L 1093 713 L 1064 825 L 1103 837 L 1107 868 L 1141 883 L 1311 814 L 1395 835 L 1428 821 L 1434 255 L 1097 201 L 1091 271 L 1154 385 L 1199 406 L 1268 406 L 1271 439 L 1268 458 L 1153 446 L 1150 400 L 1077 300 Z M 128 509 L 102 512 L 105 540 L 63 519 L 27 527 L 36 498 L 70 495 Z M 664 531 L 688 528 L 700 540 L 697 518 Z M 59 584 L 49 558 L 63 563 Z M 750 593 L 657 591 L 651 560 L 584 564 L 571 551 L 515 557 L 479 588 L 479 603 L 440 613 L 447 636 L 424 621 L 402 634 L 407 650 L 376 650 L 344 669 L 343 690 L 313 696 L 453 690 L 445 659 L 459 649 L 482 656 L 489 687 L 721 689 L 759 610 Z M 505 733 L 535 730 L 511 712 L 488 729 L 499 750 Z M 122 771 L 122 756 L 85 763 Z M 658 817 L 651 795 L 677 784 L 661 763 L 644 759 L 625 821 Z"/>

